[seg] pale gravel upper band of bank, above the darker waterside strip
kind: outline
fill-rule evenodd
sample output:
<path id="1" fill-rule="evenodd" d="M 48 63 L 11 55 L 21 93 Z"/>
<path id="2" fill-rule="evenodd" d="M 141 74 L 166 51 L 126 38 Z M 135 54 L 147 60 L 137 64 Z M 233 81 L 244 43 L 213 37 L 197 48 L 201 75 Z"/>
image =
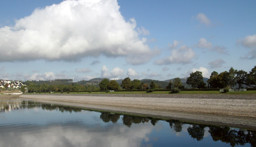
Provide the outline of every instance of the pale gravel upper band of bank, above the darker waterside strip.
<path id="1" fill-rule="evenodd" d="M 256 95 L 22 95 L 20 98 L 256 118 Z"/>

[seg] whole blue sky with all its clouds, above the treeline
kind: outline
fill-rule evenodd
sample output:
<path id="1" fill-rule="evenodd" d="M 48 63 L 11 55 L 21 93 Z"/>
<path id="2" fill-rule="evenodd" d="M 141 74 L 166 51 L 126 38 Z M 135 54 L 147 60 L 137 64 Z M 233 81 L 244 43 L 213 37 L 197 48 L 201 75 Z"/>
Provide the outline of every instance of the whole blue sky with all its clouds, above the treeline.
<path id="1" fill-rule="evenodd" d="M 0 79 L 250 72 L 255 8 L 256 0 L 0 0 Z"/>

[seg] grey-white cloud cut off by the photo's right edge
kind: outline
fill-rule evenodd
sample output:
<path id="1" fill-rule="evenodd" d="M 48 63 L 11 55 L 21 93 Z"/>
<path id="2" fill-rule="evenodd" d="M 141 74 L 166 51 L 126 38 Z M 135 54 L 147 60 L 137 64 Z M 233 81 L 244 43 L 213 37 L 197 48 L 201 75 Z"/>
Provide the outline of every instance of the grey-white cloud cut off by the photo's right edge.
<path id="1" fill-rule="evenodd" d="M 242 57 L 242 59 L 256 59 L 256 35 L 249 35 L 244 39 L 237 40 L 236 44 L 241 44 L 242 46 L 250 49 L 247 55 Z"/>

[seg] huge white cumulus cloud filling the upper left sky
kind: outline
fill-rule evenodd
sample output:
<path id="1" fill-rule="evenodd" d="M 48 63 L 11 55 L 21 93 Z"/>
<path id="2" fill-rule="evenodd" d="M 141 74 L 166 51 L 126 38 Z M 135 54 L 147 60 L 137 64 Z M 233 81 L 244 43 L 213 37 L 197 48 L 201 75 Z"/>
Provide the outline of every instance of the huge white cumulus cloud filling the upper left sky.
<path id="1" fill-rule="evenodd" d="M 122 56 L 134 65 L 148 62 L 159 50 L 140 39 L 135 19 L 127 22 L 119 8 L 117 0 L 64 0 L 38 8 L 13 27 L 0 28 L 0 61 L 79 61 L 104 55 Z"/>

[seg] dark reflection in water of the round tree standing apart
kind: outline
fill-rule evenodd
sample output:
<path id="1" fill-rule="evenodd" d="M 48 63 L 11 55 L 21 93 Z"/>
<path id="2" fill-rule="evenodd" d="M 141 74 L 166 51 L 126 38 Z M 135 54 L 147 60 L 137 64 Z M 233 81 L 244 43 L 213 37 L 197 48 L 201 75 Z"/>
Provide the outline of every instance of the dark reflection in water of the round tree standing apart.
<path id="1" fill-rule="evenodd" d="M 193 124 L 192 127 L 189 126 L 188 132 L 193 139 L 196 139 L 197 141 L 201 141 L 203 140 L 203 136 L 204 136 L 204 126 Z"/>

